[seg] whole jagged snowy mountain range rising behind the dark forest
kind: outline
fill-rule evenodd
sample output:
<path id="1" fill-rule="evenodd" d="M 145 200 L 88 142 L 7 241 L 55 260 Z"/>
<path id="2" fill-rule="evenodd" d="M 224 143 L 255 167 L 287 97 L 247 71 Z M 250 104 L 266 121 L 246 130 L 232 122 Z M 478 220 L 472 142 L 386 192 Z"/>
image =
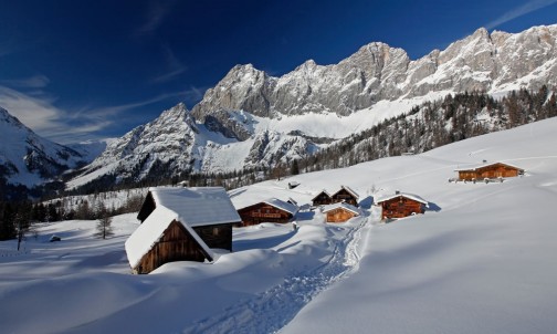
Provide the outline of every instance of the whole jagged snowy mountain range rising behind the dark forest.
<path id="1" fill-rule="evenodd" d="M 191 111 L 178 104 L 109 143 L 67 187 L 103 178 L 134 182 L 189 173 L 272 168 L 448 94 L 498 95 L 556 86 L 556 42 L 557 25 L 519 33 L 479 29 L 418 60 L 410 60 L 402 49 L 374 42 L 338 64 L 308 60 L 282 76 L 251 64 L 237 65 Z M 18 166 L 19 171 L 23 166 L 11 159 L 0 161 L 3 177 L 29 185 L 22 181 L 23 174 L 18 178 L 10 167 Z M 51 174 L 35 175 L 50 177 L 63 169 L 48 166 L 44 169 Z"/>

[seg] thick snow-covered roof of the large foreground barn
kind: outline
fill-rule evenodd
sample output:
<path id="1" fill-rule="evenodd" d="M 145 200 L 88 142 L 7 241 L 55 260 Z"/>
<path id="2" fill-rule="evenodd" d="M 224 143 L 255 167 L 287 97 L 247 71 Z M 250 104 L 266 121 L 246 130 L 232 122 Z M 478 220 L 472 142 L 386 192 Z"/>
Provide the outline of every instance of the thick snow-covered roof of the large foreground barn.
<path id="1" fill-rule="evenodd" d="M 174 220 L 183 226 L 211 259 L 214 259 L 213 252 L 193 231 L 193 227 L 241 221 L 227 191 L 220 187 L 158 187 L 150 188 L 149 192 L 156 208 L 125 243 L 132 268 L 137 267 L 141 258 L 162 238 Z"/>

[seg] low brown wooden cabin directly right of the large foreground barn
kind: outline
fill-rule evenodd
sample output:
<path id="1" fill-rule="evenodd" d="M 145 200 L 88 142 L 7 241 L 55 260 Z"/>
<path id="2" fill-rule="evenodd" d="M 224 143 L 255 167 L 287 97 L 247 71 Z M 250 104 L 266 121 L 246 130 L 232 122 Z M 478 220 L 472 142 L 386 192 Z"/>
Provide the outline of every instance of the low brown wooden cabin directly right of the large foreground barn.
<path id="1" fill-rule="evenodd" d="M 292 221 L 297 211 L 298 207 L 291 202 L 270 198 L 241 208 L 238 210 L 238 213 L 242 219 L 242 226 L 252 226 L 261 222 L 285 223 Z"/>

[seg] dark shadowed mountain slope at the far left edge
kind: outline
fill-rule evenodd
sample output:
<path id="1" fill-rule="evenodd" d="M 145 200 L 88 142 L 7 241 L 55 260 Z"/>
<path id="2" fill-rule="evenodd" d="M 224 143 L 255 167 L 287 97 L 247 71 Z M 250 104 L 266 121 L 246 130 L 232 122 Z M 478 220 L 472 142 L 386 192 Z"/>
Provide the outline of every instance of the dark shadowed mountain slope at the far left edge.
<path id="1" fill-rule="evenodd" d="M 40 185 L 85 164 L 78 152 L 42 138 L 1 107 L 0 143 L 0 177 L 12 185 Z"/>

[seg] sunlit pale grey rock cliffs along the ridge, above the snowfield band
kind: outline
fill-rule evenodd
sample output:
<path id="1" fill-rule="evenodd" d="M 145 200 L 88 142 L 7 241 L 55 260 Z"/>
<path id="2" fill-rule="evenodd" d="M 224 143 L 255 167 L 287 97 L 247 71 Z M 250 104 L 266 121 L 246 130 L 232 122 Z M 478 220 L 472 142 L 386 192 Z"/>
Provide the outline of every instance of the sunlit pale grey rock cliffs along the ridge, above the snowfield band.
<path id="1" fill-rule="evenodd" d="M 557 25 L 511 34 L 476 30 L 445 50 L 411 61 L 402 49 L 370 43 L 334 65 L 307 61 L 273 77 L 252 65 L 234 66 L 193 107 L 197 119 L 221 109 L 263 117 L 333 112 L 340 116 L 381 100 L 431 91 L 497 91 L 512 85 L 555 85 Z M 223 121 L 223 115 L 216 115 Z"/>

